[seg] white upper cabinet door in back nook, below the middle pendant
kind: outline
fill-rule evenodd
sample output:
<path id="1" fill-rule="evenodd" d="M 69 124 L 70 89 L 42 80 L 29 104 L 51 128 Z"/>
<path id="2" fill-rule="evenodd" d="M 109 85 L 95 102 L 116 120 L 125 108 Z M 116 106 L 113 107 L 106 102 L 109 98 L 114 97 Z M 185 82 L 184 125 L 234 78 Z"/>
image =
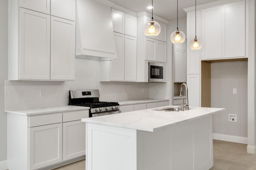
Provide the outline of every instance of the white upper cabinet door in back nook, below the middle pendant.
<path id="1" fill-rule="evenodd" d="M 186 82 L 186 51 L 174 49 L 174 82 Z"/>

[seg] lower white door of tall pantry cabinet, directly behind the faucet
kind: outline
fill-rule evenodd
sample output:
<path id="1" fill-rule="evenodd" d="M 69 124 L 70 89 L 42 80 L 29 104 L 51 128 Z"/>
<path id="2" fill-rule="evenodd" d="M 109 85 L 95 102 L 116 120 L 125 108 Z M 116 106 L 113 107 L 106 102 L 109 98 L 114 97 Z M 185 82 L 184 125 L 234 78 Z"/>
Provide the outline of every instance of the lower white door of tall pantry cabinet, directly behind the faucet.
<path id="1" fill-rule="evenodd" d="M 200 107 L 201 85 L 200 74 L 188 74 L 188 104 L 191 107 Z"/>

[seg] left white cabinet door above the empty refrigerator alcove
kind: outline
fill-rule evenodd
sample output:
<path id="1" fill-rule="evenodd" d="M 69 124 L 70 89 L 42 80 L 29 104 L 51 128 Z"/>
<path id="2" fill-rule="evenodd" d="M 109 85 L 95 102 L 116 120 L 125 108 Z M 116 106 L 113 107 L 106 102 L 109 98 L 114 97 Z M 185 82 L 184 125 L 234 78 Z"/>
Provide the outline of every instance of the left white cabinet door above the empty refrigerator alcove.
<path id="1" fill-rule="evenodd" d="M 202 60 L 222 56 L 222 8 L 202 10 Z"/>

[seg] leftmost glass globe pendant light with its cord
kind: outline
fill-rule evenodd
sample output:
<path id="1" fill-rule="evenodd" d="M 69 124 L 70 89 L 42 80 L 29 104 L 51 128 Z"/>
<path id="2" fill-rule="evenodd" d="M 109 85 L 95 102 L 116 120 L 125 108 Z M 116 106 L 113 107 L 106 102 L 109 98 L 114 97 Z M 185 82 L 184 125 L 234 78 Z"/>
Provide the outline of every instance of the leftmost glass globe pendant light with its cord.
<path id="1" fill-rule="evenodd" d="M 157 36 L 161 31 L 161 27 L 158 22 L 153 20 L 153 0 L 152 0 L 152 20 L 148 21 L 144 25 L 144 34 L 146 36 Z"/>

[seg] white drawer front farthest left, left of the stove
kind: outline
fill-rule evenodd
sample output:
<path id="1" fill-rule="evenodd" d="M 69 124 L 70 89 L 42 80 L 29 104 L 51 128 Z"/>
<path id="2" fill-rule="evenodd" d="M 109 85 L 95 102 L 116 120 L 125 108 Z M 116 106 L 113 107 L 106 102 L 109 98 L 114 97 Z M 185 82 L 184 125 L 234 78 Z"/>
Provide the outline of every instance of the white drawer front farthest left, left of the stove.
<path id="1" fill-rule="evenodd" d="M 29 127 L 62 123 L 62 113 L 29 117 Z"/>

